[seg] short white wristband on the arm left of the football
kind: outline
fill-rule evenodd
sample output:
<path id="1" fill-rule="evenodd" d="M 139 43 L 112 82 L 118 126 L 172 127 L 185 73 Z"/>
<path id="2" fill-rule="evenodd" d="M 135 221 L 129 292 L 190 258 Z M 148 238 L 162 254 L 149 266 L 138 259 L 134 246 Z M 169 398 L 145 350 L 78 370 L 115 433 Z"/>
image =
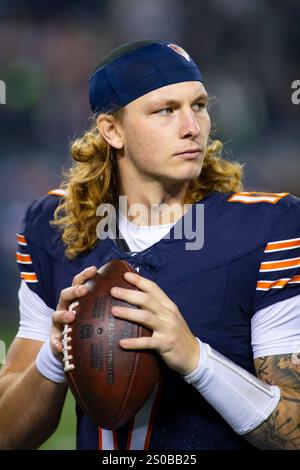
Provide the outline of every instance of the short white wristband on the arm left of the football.
<path id="1" fill-rule="evenodd" d="M 50 338 L 41 347 L 35 365 L 46 379 L 57 383 L 66 382 L 63 363 L 54 356 L 50 346 Z"/>

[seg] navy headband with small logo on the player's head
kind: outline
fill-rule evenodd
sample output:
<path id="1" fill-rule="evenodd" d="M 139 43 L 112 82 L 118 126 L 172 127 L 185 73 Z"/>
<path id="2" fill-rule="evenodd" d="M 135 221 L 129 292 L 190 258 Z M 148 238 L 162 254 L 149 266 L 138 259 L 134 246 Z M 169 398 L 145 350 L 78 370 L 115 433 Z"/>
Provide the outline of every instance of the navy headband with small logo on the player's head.
<path id="1" fill-rule="evenodd" d="M 119 50 L 125 52 L 120 55 Z M 167 41 L 127 43 L 113 51 L 103 63 L 89 79 L 90 105 L 94 113 L 117 110 L 172 83 L 203 82 L 187 52 Z"/>

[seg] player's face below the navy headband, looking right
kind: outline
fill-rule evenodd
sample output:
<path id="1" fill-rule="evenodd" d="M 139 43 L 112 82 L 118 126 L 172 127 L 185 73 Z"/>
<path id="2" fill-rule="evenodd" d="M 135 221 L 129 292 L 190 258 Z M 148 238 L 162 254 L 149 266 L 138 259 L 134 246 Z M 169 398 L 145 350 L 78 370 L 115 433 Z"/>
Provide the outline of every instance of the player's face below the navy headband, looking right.
<path id="1" fill-rule="evenodd" d="M 144 181 L 188 182 L 201 172 L 210 118 L 202 83 L 175 83 L 124 108 L 120 171 Z M 124 170 L 124 171 L 122 171 Z"/>

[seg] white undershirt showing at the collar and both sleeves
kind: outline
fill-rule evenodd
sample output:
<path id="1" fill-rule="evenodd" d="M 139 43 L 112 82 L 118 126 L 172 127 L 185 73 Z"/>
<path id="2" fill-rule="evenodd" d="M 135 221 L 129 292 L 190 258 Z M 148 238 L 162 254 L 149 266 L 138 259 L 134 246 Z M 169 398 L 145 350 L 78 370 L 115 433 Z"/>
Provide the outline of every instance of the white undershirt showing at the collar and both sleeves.
<path id="1" fill-rule="evenodd" d="M 119 228 L 131 251 L 139 252 L 158 242 L 174 224 L 137 226 L 120 214 Z M 54 310 L 22 281 L 19 290 L 19 338 L 46 341 Z M 288 354 L 300 349 L 300 295 L 258 310 L 251 320 L 253 356 Z"/>

